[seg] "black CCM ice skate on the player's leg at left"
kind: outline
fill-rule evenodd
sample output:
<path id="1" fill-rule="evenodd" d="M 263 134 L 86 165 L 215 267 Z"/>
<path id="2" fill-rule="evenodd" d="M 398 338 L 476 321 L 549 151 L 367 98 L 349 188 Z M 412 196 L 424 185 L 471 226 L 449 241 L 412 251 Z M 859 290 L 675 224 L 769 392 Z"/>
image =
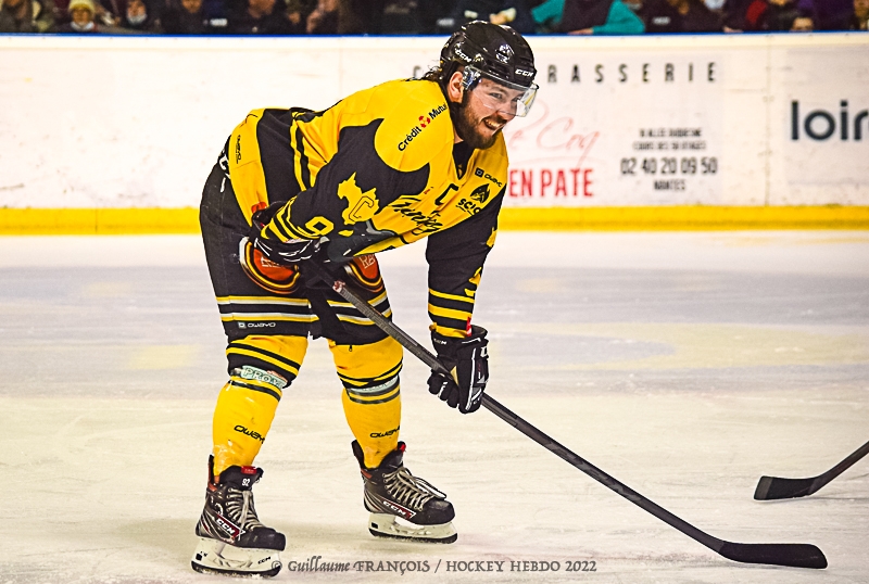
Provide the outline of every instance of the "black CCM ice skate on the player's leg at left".
<path id="1" fill-rule="evenodd" d="M 209 460 L 205 508 L 197 523 L 199 545 L 190 564 L 197 572 L 272 577 L 281 568 L 282 533 L 260 523 L 253 507 L 253 484 L 263 475 L 255 467 L 229 467 L 215 482 Z"/>

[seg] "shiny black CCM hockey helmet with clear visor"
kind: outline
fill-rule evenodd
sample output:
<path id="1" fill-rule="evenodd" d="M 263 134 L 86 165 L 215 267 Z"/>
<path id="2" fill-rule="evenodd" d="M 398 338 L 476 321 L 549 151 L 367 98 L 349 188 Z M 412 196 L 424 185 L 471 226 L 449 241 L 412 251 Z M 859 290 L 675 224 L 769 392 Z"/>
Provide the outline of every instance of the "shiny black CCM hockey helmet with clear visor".
<path id="1" fill-rule="evenodd" d="M 520 34 L 509 26 L 474 21 L 453 33 L 441 49 L 443 82 L 464 66 L 463 85 L 470 91 L 480 78 L 522 91 L 515 115 L 526 115 L 537 94 L 534 53 Z"/>

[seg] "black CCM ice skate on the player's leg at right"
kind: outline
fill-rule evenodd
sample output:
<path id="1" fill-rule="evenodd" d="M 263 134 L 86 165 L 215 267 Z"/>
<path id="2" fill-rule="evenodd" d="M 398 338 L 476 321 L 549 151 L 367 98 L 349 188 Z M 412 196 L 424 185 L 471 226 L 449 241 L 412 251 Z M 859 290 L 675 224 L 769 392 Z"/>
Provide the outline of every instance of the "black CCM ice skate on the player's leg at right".
<path id="1" fill-rule="evenodd" d="M 458 535 L 451 521 L 453 504 L 432 485 L 404 467 L 404 443 L 383 458 L 377 468 L 366 468 L 356 441 L 353 454 L 365 481 L 365 508 L 370 511 L 368 531 L 378 537 L 395 537 L 452 544 Z"/>

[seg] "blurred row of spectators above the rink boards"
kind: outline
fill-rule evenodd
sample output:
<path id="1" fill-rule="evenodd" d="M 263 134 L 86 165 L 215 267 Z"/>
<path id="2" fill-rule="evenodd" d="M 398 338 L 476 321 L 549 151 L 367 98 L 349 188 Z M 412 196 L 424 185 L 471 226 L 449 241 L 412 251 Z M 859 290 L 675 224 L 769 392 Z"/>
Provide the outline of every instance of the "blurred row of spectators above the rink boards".
<path id="1" fill-rule="evenodd" d="M 0 33 L 446 35 L 866 30 L 869 0 L 0 0 Z"/>

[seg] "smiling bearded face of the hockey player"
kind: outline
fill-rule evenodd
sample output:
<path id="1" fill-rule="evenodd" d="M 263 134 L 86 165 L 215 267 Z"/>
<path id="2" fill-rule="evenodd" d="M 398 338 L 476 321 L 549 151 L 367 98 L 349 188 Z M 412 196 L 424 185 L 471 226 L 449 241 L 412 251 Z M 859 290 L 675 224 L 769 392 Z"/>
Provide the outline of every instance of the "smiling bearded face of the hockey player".
<path id="1" fill-rule="evenodd" d="M 516 100 L 521 96 L 520 91 L 480 79 L 462 100 L 455 120 L 458 137 L 474 149 L 491 147 L 507 122 L 516 117 Z"/>

